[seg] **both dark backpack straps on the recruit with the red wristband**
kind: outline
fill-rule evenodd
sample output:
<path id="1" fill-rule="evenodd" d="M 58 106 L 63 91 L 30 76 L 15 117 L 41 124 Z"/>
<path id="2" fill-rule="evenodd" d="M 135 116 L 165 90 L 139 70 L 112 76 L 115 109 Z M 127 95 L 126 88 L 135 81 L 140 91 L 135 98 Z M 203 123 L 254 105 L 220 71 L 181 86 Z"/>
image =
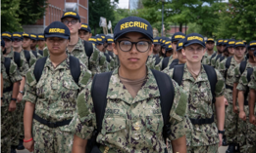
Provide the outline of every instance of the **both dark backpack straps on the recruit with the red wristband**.
<path id="1" fill-rule="evenodd" d="M 33 74 L 36 79 L 36 82 L 38 82 L 41 78 L 46 59 L 47 57 L 42 57 L 35 62 Z M 80 76 L 80 63 L 77 57 L 70 56 L 70 68 L 71 68 L 72 77 L 74 81 L 78 84 L 79 76 Z"/>

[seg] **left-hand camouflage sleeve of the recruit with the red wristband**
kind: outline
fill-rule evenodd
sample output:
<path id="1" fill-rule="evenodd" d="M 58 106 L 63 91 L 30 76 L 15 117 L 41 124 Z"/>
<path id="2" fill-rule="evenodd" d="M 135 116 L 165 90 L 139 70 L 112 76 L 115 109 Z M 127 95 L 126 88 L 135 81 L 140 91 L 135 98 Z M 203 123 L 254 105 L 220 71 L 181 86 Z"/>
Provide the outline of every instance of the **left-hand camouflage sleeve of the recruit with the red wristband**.
<path id="1" fill-rule="evenodd" d="M 33 75 L 33 69 L 34 69 L 34 65 L 30 69 L 28 69 L 26 73 L 26 87 L 25 87 L 26 92 L 25 92 L 24 100 L 35 103 L 37 96 L 36 96 L 36 80 Z"/>

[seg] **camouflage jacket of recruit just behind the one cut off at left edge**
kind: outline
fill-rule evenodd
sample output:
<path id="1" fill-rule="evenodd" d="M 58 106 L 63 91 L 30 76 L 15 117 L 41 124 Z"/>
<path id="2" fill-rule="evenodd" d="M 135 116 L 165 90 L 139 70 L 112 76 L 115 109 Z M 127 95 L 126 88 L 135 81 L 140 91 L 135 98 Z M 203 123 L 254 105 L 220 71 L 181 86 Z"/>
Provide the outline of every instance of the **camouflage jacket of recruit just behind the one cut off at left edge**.
<path id="1" fill-rule="evenodd" d="M 23 77 L 26 77 L 26 71 L 28 70 L 29 66 L 28 66 L 28 63 L 26 61 L 26 57 L 24 56 L 24 54 L 20 54 L 21 55 L 21 63 L 20 63 L 20 67 L 18 67 L 19 71 L 20 71 L 20 74 L 23 76 Z M 6 55 L 6 57 L 10 57 L 12 60 L 14 60 L 14 51 L 11 50 L 11 52 Z"/>

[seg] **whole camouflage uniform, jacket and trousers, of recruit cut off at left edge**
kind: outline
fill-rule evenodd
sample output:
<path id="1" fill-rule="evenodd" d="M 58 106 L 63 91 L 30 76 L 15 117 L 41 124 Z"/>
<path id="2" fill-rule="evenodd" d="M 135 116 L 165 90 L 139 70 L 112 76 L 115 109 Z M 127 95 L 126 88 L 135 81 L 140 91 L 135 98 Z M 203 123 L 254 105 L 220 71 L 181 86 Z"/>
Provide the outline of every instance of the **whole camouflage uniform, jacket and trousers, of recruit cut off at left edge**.
<path id="1" fill-rule="evenodd" d="M 4 65 L 1 68 L 3 70 L 2 74 L 4 80 L 4 89 L 11 87 L 14 83 L 22 80 L 22 76 L 20 75 L 18 67 L 13 60 L 11 60 L 9 75 L 6 73 L 6 68 Z M 1 106 L 1 152 L 3 153 L 10 152 L 12 144 L 11 140 L 14 138 L 13 135 L 17 134 L 17 131 L 19 130 L 19 127 L 16 127 L 19 126 L 19 123 L 17 124 L 17 111 L 10 112 L 8 110 L 12 98 L 12 93 L 12 91 L 3 93 L 3 105 Z"/>

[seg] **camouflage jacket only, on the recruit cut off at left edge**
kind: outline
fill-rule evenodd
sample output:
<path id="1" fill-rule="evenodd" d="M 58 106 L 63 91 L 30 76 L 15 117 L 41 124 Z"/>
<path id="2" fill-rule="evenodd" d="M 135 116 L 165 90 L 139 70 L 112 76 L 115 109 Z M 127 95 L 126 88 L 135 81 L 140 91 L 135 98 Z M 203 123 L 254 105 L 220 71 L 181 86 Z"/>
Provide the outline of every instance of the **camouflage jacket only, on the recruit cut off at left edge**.
<path id="1" fill-rule="evenodd" d="M 4 62 L 4 60 L 3 60 L 3 62 Z M 6 68 L 5 68 L 4 64 L 1 68 L 2 68 L 2 72 L 3 72 L 4 90 L 6 88 L 13 86 L 14 83 L 20 82 L 23 79 L 23 77 L 20 74 L 20 71 L 18 70 L 17 64 L 13 60 L 11 60 L 9 75 L 6 72 Z M 11 102 L 12 95 L 13 95 L 12 91 L 6 92 L 3 94 L 3 105 L 2 106 L 9 105 L 9 103 Z"/>

